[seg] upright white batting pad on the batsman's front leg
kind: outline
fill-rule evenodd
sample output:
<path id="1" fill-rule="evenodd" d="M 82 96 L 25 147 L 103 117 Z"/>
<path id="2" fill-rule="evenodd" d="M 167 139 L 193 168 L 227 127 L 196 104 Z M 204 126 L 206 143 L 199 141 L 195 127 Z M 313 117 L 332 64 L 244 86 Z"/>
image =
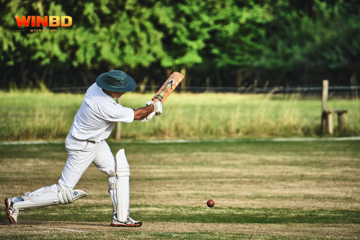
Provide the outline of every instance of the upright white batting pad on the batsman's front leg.
<path id="1" fill-rule="evenodd" d="M 120 222 L 125 222 L 127 216 L 130 213 L 130 209 L 129 209 L 130 166 L 127 163 L 124 149 L 120 149 L 116 154 L 116 176 L 117 176 L 117 181 L 114 189 L 116 189 L 116 198 L 117 198 L 117 204 L 116 204 L 117 219 Z"/>

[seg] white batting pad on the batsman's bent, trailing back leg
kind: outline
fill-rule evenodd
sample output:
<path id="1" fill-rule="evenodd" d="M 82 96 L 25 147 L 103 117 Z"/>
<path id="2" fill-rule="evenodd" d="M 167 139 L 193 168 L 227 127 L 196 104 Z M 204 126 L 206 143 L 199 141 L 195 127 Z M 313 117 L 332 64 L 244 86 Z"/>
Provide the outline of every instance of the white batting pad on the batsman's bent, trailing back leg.
<path id="1" fill-rule="evenodd" d="M 66 193 L 68 192 L 68 193 Z M 87 193 L 81 190 L 68 190 L 64 192 L 64 194 L 69 198 L 64 201 L 63 194 L 53 193 L 51 191 L 51 186 L 44 187 L 43 191 L 39 191 L 36 195 L 30 198 L 29 193 L 26 193 L 23 198 L 24 201 L 19 201 L 14 203 L 13 207 L 15 210 L 27 210 L 27 209 L 35 209 L 48 207 L 57 204 L 68 204 L 73 201 L 84 198 L 87 196 Z"/>

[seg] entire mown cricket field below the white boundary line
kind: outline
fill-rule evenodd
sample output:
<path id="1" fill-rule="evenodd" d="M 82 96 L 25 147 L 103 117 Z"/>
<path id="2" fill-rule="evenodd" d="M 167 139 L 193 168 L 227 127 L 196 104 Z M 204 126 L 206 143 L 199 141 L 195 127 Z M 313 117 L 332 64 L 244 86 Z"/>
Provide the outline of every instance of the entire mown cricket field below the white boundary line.
<path id="1" fill-rule="evenodd" d="M 360 239 L 360 141 L 108 141 L 130 164 L 130 214 L 110 227 L 107 176 L 91 165 L 69 205 L 21 212 L 0 239 Z M 54 184 L 63 144 L 0 145 L 0 199 Z M 213 199 L 215 207 L 206 201 Z"/>

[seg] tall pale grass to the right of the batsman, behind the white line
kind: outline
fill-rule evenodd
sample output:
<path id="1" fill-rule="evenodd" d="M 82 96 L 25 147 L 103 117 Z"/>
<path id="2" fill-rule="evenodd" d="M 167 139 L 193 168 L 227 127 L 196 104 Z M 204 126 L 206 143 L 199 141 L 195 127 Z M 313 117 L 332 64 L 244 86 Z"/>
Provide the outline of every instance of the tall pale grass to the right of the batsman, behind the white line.
<path id="1" fill-rule="evenodd" d="M 123 104 L 147 101 L 151 94 L 124 95 Z M 346 130 L 335 135 L 360 134 L 360 105 L 330 100 L 329 108 L 348 110 Z M 122 124 L 124 137 L 244 137 L 316 136 L 320 134 L 321 100 L 300 95 L 240 95 L 224 93 L 172 94 L 164 113 L 147 123 Z M 337 118 L 333 118 L 337 126 Z"/>

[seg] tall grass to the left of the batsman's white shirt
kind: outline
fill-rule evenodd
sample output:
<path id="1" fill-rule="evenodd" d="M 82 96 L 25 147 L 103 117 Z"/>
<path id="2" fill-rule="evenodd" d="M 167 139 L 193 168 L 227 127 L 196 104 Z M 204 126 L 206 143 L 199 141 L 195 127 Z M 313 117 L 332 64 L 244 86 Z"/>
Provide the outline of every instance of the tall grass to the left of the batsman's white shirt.
<path id="1" fill-rule="evenodd" d="M 47 91 L 0 92 L 0 139 L 66 137 L 83 97 Z"/>

